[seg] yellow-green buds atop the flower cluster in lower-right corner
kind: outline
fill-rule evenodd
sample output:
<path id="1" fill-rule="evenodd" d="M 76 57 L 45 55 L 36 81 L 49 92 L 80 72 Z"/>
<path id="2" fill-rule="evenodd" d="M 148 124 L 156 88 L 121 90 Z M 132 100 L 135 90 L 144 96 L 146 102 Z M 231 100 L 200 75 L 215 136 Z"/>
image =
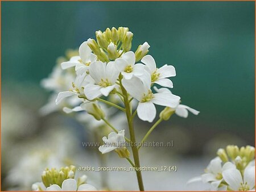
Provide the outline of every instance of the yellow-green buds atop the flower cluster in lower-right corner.
<path id="1" fill-rule="evenodd" d="M 254 159 L 255 148 L 249 145 L 241 148 L 238 148 L 237 145 L 228 145 L 226 150 L 218 149 L 217 155 L 223 162 L 228 162 L 229 159 L 234 161 L 237 168 L 243 170 Z"/>

